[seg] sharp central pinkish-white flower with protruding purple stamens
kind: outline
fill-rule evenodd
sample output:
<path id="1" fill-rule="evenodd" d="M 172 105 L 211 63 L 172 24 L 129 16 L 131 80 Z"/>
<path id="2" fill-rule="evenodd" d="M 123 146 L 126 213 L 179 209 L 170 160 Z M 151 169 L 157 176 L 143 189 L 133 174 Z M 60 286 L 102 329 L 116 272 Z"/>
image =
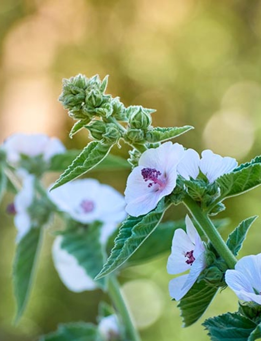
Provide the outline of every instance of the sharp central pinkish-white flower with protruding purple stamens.
<path id="1" fill-rule="evenodd" d="M 177 164 L 184 155 L 178 143 L 165 142 L 146 150 L 127 180 L 126 211 L 134 217 L 154 209 L 161 198 L 170 194 L 177 179 Z"/>

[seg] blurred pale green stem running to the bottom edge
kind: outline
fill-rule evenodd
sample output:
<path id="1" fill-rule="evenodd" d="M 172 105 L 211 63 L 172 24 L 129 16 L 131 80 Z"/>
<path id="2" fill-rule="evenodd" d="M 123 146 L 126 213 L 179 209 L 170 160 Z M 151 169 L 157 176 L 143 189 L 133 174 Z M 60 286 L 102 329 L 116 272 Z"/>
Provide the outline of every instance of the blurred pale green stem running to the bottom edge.
<path id="1" fill-rule="evenodd" d="M 130 313 L 126 306 L 124 297 L 121 294 L 120 286 L 114 276 L 108 277 L 108 292 L 115 305 L 116 310 L 119 312 L 126 329 L 126 336 L 130 341 L 141 341 L 133 322 Z"/>

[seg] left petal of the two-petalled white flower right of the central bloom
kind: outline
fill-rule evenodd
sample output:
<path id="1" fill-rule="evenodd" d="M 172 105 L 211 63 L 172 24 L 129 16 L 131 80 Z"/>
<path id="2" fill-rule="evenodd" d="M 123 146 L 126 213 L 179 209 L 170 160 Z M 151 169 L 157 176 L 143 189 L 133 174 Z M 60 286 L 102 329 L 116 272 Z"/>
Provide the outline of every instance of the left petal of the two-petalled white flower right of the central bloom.
<path id="1" fill-rule="evenodd" d="M 196 179 L 199 175 L 199 154 L 194 149 L 187 149 L 184 152 L 183 159 L 177 165 L 177 172 L 186 180 L 190 177 Z"/>

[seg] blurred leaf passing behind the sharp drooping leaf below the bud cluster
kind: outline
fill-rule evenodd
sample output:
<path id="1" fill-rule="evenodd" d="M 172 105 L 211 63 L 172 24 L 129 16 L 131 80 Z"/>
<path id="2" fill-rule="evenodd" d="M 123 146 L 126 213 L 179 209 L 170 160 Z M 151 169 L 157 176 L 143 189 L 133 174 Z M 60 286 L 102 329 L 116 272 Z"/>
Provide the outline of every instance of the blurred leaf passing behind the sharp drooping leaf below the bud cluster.
<path id="1" fill-rule="evenodd" d="M 82 152 L 79 149 L 67 150 L 63 154 L 56 154 L 51 159 L 50 172 L 64 172 L 74 159 Z M 115 170 L 115 169 L 130 169 L 130 164 L 123 158 L 109 154 L 99 163 L 93 170 Z M 91 171 L 91 170 L 90 170 Z"/>

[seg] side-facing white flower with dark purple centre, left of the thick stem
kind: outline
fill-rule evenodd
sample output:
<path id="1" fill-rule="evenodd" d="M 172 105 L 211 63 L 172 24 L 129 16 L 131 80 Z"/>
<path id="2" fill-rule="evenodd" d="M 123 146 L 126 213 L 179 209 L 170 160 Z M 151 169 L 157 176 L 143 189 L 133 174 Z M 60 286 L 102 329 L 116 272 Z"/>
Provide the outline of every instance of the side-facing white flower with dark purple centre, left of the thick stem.
<path id="1" fill-rule="evenodd" d="M 175 231 L 167 263 L 171 275 L 190 270 L 189 274 L 170 281 L 170 296 L 177 301 L 186 295 L 206 267 L 205 247 L 189 216 L 186 216 L 186 231 L 181 228 Z"/>

